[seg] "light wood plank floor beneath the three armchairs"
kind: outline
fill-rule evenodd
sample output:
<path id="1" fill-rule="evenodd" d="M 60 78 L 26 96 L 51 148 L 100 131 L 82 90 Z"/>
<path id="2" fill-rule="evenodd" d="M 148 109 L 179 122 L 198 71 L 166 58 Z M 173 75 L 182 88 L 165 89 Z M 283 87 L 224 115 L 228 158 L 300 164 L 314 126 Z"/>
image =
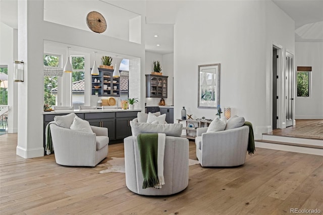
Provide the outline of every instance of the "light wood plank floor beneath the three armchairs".
<path id="1" fill-rule="evenodd" d="M 286 214 L 323 211 L 323 156 L 257 148 L 238 168 L 190 166 L 189 184 L 172 196 L 129 191 L 125 174 L 63 167 L 48 155 L 16 155 L 17 135 L 0 136 L 0 214 Z M 123 157 L 123 144 L 108 157 Z M 196 159 L 190 142 L 190 158 Z M 107 158 L 109 159 L 109 158 Z M 106 162 L 104 159 L 102 162 Z"/>

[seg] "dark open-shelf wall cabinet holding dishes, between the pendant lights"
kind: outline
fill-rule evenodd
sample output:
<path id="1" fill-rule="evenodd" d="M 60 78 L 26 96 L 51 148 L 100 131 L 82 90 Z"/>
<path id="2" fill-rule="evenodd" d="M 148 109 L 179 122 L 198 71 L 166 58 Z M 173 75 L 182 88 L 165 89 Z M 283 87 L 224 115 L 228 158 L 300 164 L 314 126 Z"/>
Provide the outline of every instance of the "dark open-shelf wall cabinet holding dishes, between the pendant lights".
<path id="1" fill-rule="evenodd" d="M 98 68 L 99 75 L 91 77 L 91 94 L 120 97 L 120 77 L 113 77 L 113 70 Z M 95 88 L 99 86 L 99 88 Z M 106 89 L 105 89 L 106 88 Z"/>

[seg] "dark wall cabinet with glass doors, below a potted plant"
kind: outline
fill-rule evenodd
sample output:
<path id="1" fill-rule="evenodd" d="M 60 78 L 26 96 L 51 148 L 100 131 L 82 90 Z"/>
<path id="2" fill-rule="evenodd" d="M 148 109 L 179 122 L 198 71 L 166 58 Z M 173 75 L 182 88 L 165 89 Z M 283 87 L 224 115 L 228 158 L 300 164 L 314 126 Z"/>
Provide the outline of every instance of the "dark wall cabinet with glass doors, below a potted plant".
<path id="1" fill-rule="evenodd" d="M 167 98 L 168 76 L 146 75 L 146 97 Z"/>

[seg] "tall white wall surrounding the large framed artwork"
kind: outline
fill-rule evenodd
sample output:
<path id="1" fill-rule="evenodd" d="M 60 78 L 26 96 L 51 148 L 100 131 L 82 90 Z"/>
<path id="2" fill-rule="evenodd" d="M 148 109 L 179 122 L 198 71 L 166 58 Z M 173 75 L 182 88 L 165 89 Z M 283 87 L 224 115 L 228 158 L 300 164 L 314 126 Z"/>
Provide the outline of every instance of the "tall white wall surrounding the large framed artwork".
<path id="1" fill-rule="evenodd" d="M 272 18 L 274 16 L 274 18 Z M 221 64 L 220 104 L 253 124 L 255 138 L 272 128 L 273 41 L 294 51 L 294 21 L 271 1 L 188 2 L 174 30 L 174 115 L 214 119 L 197 108 L 198 65 Z"/>

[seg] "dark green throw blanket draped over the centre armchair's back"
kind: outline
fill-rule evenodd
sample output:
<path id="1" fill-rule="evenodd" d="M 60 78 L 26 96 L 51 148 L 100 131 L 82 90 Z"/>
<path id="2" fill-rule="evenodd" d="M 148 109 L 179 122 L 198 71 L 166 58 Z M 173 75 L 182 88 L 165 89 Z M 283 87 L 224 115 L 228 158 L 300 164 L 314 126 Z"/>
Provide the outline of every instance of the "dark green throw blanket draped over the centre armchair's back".
<path id="1" fill-rule="evenodd" d="M 158 134 L 139 134 L 137 141 L 143 175 L 142 188 L 155 187 L 159 183 L 157 176 Z"/>

